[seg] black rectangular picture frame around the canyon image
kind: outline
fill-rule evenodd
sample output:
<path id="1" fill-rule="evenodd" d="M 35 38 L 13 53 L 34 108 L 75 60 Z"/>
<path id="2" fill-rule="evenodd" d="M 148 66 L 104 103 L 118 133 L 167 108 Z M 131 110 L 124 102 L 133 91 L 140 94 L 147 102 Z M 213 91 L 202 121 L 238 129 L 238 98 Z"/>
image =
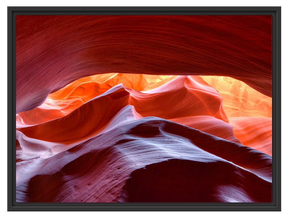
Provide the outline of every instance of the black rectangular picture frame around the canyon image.
<path id="1" fill-rule="evenodd" d="M 271 203 L 16 203 L 16 15 L 272 15 Z M 8 211 L 281 211 L 281 7 L 7 7 Z"/>

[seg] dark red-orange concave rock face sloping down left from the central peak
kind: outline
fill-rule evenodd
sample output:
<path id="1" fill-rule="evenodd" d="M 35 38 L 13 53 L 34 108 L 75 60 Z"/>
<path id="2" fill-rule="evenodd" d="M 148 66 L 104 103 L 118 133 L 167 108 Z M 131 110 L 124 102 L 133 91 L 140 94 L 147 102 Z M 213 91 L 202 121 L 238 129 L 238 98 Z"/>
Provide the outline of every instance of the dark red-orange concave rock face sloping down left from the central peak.
<path id="1" fill-rule="evenodd" d="M 64 117 L 18 130 L 34 139 L 72 143 L 99 131 L 128 101 L 129 92 L 118 85 Z"/>

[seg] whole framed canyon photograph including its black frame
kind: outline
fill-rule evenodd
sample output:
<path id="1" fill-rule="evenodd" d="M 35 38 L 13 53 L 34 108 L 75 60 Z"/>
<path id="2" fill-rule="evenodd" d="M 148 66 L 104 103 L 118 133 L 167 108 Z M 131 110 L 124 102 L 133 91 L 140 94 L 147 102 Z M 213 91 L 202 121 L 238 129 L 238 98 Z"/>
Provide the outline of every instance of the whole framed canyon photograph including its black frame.
<path id="1" fill-rule="evenodd" d="M 8 7 L 8 211 L 280 211 L 281 7 Z"/>

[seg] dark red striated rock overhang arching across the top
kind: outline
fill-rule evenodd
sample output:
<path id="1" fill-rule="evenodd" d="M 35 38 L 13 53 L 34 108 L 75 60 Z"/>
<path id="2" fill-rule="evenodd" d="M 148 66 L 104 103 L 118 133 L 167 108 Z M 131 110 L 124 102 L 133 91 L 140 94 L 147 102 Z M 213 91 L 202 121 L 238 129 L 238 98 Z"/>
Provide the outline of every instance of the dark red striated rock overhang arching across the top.
<path id="1" fill-rule="evenodd" d="M 271 15 L 17 15 L 16 113 L 104 73 L 229 76 L 271 96 L 271 26 Z"/>

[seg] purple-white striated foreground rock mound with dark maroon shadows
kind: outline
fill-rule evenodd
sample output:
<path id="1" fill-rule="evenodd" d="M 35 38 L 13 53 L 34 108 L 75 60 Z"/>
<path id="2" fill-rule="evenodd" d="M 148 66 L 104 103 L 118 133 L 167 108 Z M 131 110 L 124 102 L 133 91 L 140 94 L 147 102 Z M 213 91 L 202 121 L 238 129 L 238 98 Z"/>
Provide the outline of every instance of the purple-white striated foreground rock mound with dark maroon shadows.
<path id="1" fill-rule="evenodd" d="M 269 155 L 165 119 L 136 119 L 135 113 L 128 105 L 91 139 L 19 162 L 17 201 L 271 201 Z M 20 146 L 25 139 L 19 133 Z"/>

